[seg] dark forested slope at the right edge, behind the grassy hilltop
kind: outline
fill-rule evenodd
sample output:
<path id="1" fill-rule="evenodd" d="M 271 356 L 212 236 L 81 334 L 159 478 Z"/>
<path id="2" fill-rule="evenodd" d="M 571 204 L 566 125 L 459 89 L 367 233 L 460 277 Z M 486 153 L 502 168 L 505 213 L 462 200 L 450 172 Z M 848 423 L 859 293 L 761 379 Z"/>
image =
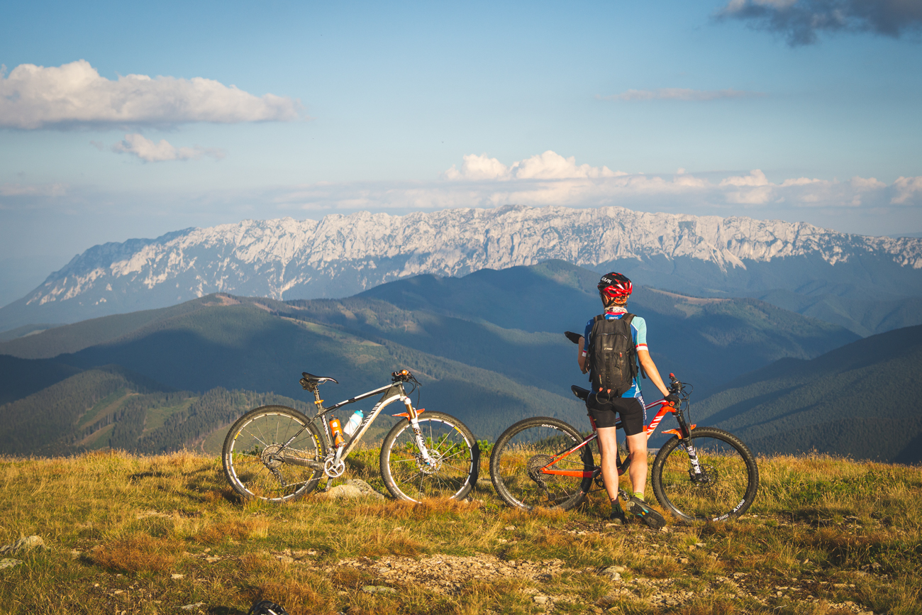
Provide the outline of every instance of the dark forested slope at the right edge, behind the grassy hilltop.
<path id="1" fill-rule="evenodd" d="M 922 326 L 858 340 L 811 361 L 746 374 L 693 407 L 693 420 L 762 453 L 922 461 Z"/>

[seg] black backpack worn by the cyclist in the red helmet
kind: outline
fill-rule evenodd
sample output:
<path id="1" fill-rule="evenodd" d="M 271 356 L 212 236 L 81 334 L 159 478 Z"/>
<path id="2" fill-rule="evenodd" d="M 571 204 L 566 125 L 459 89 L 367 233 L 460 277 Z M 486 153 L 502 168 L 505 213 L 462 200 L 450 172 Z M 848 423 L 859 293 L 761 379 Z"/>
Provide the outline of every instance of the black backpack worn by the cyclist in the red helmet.
<path id="1" fill-rule="evenodd" d="M 637 377 L 637 349 L 631 333 L 633 317 L 632 313 L 611 320 L 605 314 L 596 316 L 586 355 L 594 392 L 599 388 L 611 389 L 611 396 L 620 397 L 632 387 Z"/>

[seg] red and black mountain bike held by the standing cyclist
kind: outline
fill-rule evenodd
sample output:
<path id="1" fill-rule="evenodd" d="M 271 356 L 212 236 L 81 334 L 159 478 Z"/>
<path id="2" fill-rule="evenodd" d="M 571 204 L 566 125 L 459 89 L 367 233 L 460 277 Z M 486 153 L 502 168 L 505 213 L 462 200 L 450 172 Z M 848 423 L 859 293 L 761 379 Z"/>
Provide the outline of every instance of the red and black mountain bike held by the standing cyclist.
<path id="1" fill-rule="evenodd" d="M 578 341 L 578 334 L 567 337 Z M 691 384 L 669 374 L 671 393 L 680 396 L 673 404 L 665 398 L 644 409 L 659 408 L 645 426 L 647 437 L 667 414 L 678 429 L 665 433 L 672 438 L 659 449 L 650 472 L 656 501 L 685 521 L 722 521 L 746 512 L 759 489 L 759 467 L 746 444 L 735 435 L 714 427 L 689 424 Z M 573 395 L 584 402 L 590 391 L 573 385 Z M 535 507 L 570 510 L 583 503 L 590 491 L 604 490 L 601 468 L 593 461 L 590 444 L 596 440 L 596 421 L 589 417 L 592 432 L 583 436 L 570 424 L 547 417 L 520 420 L 496 441 L 490 457 L 493 487 L 502 500 L 523 510 Z M 621 417 L 616 421 L 621 429 Z M 630 456 L 617 453 L 618 474 L 630 465 Z M 631 494 L 619 489 L 625 501 Z"/>

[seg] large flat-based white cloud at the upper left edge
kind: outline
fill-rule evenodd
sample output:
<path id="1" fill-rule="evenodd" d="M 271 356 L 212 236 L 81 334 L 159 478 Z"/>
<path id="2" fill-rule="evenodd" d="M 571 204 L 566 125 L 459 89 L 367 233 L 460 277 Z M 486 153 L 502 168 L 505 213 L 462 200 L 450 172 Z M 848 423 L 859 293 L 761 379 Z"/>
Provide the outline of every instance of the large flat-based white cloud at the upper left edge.
<path id="1" fill-rule="evenodd" d="M 81 124 L 284 122 L 299 101 L 254 96 L 204 77 L 126 75 L 110 80 L 86 60 L 60 66 L 18 65 L 0 71 L 0 127 L 35 129 Z"/>

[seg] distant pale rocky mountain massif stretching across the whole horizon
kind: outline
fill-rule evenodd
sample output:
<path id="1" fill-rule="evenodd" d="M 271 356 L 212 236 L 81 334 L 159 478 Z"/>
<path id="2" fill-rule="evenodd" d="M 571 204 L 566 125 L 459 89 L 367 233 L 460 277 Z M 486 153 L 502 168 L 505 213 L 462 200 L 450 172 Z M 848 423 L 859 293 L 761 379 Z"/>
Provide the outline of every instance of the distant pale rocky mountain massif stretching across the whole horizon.
<path id="1" fill-rule="evenodd" d="M 423 273 L 463 276 L 550 258 L 616 263 L 640 283 L 694 295 L 798 291 L 823 280 L 894 300 L 922 295 L 919 239 L 622 207 L 508 206 L 247 220 L 106 243 L 0 309 L 0 329 L 158 308 L 218 291 L 341 297 Z"/>

